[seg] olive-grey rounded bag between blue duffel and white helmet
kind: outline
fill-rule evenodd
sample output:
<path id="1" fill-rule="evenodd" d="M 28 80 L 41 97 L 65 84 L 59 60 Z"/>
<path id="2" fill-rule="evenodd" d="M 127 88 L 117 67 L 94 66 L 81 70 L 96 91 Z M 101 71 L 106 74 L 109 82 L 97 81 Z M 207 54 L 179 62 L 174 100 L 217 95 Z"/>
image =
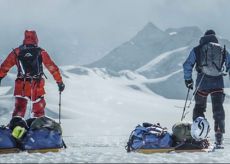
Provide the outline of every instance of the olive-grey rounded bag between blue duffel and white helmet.
<path id="1" fill-rule="evenodd" d="M 192 140 L 190 123 L 176 123 L 172 127 L 172 137 L 174 142 L 184 142 Z"/>

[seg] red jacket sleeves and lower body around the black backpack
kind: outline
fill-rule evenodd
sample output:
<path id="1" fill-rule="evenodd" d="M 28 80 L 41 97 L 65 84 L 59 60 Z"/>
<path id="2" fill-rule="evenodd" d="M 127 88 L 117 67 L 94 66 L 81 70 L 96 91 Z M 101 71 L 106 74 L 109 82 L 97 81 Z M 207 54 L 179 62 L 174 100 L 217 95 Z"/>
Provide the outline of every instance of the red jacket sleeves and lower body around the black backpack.
<path id="1" fill-rule="evenodd" d="M 16 55 L 19 54 L 19 51 L 20 51 L 19 48 L 16 48 L 15 53 L 14 51 L 12 51 L 5 59 L 5 61 L 1 64 L 0 78 L 5 77 L 7 72 L 10 70 L 10 68 L 18 64 Z M 52 61 L 52 59 L 44 49 L 42 49 L 41 51 L 41 56 L 42 56 L 42 63 L 53 75 L 55 81 L 57 83 L 62 82 L 62 77 L 59 68 Z M 24 82 L 23 79 L 17 78 L 15 81 L 14 95 L 31 97 L 32 94 L 32 100 L 36 100 L 37 98 L 45 94 L 44 85 L 45 85 L 45 80 L 43 78 L 39 81 L 33 80 L 32 83 L 30 83 L 30 81 Z"/>

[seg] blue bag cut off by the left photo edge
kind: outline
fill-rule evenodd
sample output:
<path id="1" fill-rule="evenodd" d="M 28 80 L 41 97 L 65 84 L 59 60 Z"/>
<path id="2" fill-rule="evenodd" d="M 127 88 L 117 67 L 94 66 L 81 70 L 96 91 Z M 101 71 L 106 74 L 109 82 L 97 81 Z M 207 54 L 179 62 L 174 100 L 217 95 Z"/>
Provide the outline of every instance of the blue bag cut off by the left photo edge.
<path id="1" fill-rule="evenodd" d="M 17 144 L 11 133 L 9 128 L 0 127 L 0 149 L 16 148 Z"/>

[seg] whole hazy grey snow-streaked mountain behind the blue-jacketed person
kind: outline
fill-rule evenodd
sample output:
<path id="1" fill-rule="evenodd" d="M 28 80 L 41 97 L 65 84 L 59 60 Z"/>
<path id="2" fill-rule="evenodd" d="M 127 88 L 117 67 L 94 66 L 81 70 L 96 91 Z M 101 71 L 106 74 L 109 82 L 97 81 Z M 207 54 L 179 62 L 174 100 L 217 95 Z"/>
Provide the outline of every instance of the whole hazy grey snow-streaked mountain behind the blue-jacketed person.
<path id="1" fill-rule="evenodd" d="M 87 67 L 110 71 L 132 70 L 149 79 L 170 76 L 160 83 L 145 83 L 155 93 L 166 98 L 184 99 L 182 65 L 189 52 L 199 42 L 203 32 L 198 27 L 169 28 L 165 31 L 148 23 L 131 40 L 115 48 L 102 59 Z M 222 45 L 230 42 L 219 37 Z M 195 78 L 194 71 L 194 78 Z M 225 78 L 229 87 L 228 78 Z"/>

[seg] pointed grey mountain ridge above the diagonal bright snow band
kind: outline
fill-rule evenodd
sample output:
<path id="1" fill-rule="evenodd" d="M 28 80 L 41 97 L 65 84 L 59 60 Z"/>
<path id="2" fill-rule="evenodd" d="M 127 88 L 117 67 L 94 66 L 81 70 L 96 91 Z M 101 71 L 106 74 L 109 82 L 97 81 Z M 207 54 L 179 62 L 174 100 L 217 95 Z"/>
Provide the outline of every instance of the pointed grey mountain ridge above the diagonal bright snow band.
<path id="1" fill-rule="evenodd" d="M 86 66 L 114 71 L 136 70 L 161 53 L 194 45 L 201 34 L 201 30 L 197 27 L 162 31 L 153 23 L 148 23 L 131 40 L 115 48 L 102 59 Z"/>

